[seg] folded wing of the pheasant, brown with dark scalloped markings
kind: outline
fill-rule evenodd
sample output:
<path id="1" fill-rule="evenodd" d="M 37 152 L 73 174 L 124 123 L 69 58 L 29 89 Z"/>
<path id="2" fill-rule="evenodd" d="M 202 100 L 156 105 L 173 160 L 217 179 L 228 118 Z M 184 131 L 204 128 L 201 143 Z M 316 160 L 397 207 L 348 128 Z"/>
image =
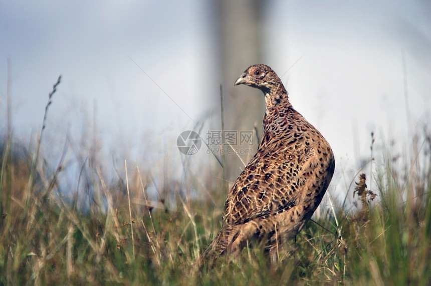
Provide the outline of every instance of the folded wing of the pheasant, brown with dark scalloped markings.
<path id="1" fill-rule="evenodd" d="M 284 148 L 275 142 L 278 147 L 271 149 L 276 152 L 258 151 L 229 192 L 224 223 L 241 224 L 286 211 L 303 189 L 317 187 L 312 176 L 318 159 L 313 147 L 298 141 Z"/>

